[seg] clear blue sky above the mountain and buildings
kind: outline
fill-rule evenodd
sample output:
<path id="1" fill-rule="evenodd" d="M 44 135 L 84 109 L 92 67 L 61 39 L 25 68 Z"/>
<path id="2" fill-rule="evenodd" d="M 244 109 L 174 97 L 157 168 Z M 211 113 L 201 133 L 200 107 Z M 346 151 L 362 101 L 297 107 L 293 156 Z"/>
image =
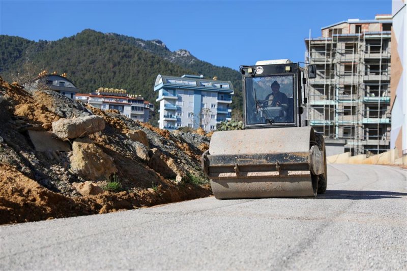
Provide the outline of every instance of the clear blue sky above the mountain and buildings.
<path id="1" fill-rule="evenodd" d="M 391 1 L 8 1 L 0 34 L 54 41 L 86 28 L 143 40 L 239 69 L 257 60 L 304 61 L 304 38 L 349 18 L 391 14 Z"/>

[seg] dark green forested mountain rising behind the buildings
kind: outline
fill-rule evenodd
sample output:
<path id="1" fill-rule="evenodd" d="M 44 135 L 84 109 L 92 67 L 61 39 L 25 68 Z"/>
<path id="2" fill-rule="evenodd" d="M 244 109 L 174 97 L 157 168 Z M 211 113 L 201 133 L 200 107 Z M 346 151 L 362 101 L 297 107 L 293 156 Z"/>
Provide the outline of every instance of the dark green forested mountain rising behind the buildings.
<path id="1" fill-rule="evenodd" d="M 127 89 L 153 103 L 157 96 L 153 86 L 158 74 L 217 76 L 218 80 L 232 82 L 235 97 L 231 106 L 235 112 L 241 112 L 239 72 L 199 60 L 185 49 L 172 52 L 160 40 L 144 41 L 91 29 L 51 42 L 1 35 L 0 52 L 0 74 L 6 80 L 12 81 L 18 73 L 26 73 L 30 63 L 37 74 L 45 69 L 67 73 L 84 93 L 99 87 Z"/>

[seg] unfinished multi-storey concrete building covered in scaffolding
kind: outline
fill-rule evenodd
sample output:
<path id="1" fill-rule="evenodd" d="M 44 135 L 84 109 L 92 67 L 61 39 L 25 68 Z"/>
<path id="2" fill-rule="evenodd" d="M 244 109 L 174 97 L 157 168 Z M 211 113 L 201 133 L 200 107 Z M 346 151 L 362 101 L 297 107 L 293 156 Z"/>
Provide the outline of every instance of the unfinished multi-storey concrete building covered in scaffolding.
<path id="1" fill-rule="evenodd" d="M 391 19 L 348 19 L 305 40 L 306 62 L 317 70 L 309 83 L 308 120 L 352 155 L 390 147 Z"/>

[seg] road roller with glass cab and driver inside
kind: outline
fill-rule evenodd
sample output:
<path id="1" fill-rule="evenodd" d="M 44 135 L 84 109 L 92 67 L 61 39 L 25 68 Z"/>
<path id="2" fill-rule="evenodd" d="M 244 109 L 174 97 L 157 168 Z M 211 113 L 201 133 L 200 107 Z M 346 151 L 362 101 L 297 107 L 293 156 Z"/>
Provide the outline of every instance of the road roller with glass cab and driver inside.
<path id="1" fill-rule="evenodd" d="M 244 129 L 215 131 L 202 170 L 217 199 L 315 197 L 327 189 L 323 134 L 307 121 L 315 65 L 288 59 L 240 66 Z"/>

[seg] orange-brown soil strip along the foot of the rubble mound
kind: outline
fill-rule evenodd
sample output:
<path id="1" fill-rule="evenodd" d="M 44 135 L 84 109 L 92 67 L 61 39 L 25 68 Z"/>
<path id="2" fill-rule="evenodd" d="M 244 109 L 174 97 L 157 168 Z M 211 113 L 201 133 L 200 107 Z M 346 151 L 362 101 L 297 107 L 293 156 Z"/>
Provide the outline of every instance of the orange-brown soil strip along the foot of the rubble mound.
<path id="1" fill-rule="evenodd" d="M 192 185 L 159 185 L 156 190 L 71 198 L 42 187 L 13 166 L 0 163 L 0 224 L 104 214 L 209 195 L 208 186 L 197 189 Z"/>

